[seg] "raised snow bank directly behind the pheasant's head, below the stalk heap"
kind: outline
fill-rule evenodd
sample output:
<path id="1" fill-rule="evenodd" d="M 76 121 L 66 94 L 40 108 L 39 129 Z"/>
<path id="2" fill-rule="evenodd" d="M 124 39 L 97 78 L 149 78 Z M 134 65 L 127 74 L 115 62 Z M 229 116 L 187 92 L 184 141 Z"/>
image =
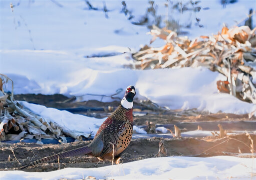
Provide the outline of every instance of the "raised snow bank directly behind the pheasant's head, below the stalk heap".
<path id="1" fill-rule="evenodd" d="M 87 68 L 73 71 L 70 74 L 65 74 L 65 76 L 67 77 L 65 81 L 64 79 L 61 81 L 59 76 L 55 78 L 56 80 L 54 77 L 49 79 L 49 83 L 41 88 L 41 93 L 50 90 L 54 93 L 78 96 L 79 100 L 112 101 L 113 99 L 110 97 L 92 94 L 111 96 L 116 93 L 116 90 L 122 88 L 123 90 L 115 96 L 121 98 L 124 89 L 133 84 L 136 87 L 135 100 L 147 98 L 171 109 L 197 108 L 213 113 L 223 111 L 243 114 L 256 108 L 255 104 L 241 101 L 226 93 L 218 93 L 216 81 L 225 80 L 225 77 L 203 67 L 151 70 L 116 69 L 111 71 Z M 15 87 L 23 82 L 16 85 L 16 82 L 21 81 L 22 78 L 13 74 L 10 74 L 10 77 L 13 78 Z M 24 86 L 21 89 L 31 91 L 34 86 L 35 83 L 30 82 L 28 87 Z M 39 91 L 38 88 L 37 91 Z"/>

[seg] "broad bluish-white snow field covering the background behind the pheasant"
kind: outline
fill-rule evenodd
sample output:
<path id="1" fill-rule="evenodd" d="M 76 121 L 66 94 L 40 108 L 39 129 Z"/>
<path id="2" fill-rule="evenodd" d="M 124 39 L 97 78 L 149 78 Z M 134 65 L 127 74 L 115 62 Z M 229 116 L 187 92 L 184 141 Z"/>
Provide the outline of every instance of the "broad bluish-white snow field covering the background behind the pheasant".
<path id="1" fill-rule="evenodd" d="M 10 8 L 13 3 L 14 11 Z M 135 100 L 150 99 L 171 109 L 197 108 L 209 112 L 249 113 L 255 104 L 217 92 L 216 81 L 226 80 L 208 69 L 181 68 L 134 70 L 129 48 L 138 50 L 149 43 L 146 26 L 134 25 L 145 14 L 148 1 L 126 1 L 135 19 L 127 20 L 121 11 L 121 1 L 106 1 L 109 18 L 103 11 L 88 10 L 85 1 L 11 1 L 1 3 L 0 72 L 14 81 L 14 93 L 43 93 L 77 96 L 78 100 L 112 101 L 122 98 L 128 85 L 135 85 Z M 155 1 L 158 13 L 165 15 L 165 1 Z M 103 1 L 91 1 L 103 8 Z M 192 26 L 189 36 L 209 35 L 221 29 L 222 23 L 246 17 L 255 1 L 239 0 L 223 8 L 220 1 L 202 1 L 197 16 L 204 28 Z M 213 13 L 215 12 L 215 13 Z M 218 13 L 219 12 L 219 13 Z M 214 14 L 214 15 L 213 15 Z M 180 23 L 193 14 L 178 14 Z M 178 17 L 178 16 L 177 16 Z M 253 19 L 255 15 L 253 15 Z M 210 20 L 209 20 L 210 19 Z M 164 41 L 156 40 L 157 47 Z M 128 48 L 129 47 L 129 48 Z M 128 53 L 123 53 L 128 52 Z M 121 53 L 121 54 L 118 54 Z M 107 57 L 91 57 L 118 54 Z M 88 58 L 85 58 L 88 57 Z M 7 90 L 11 91 L 10 81 Z"/>

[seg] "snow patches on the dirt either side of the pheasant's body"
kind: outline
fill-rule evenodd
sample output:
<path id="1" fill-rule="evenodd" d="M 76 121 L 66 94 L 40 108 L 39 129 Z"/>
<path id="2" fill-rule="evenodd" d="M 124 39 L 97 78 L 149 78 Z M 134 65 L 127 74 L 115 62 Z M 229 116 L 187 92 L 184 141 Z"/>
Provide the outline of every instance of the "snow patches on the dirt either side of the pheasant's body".
<path id="1" fill-rule="evenodd" d="M 88 117 L 81 114 L 73 114 L 66 110 L 58 110 L 56 108 L 46 107 L 44 105 L 39 105 L 39 104 L 33 104 L 26 101 L 19 101 L 19 103 L 24 107 L 30 109 L 32 112 L 44 117 L 48 122 L 54 121 L 59 125 L 72 130 L 74 133 L 77 133 L 78 135 L 84 135 L 86 137 L 88 137 L 89 134 L 91 133 L 92 133 L 92 136 L 94 136 L 98 128 L 100 127 L 100 125 L 106 119 L 106 118 L 98 119 L 95 117 Z M 70 123 L 71 119 L 72 119 L 72 123 Z M 147 134 L 147 132 L 144 129 L 134 125 L 133 130 L 136 133 L 133 135 L 133 138 L 146 137 L 145 135 L 142 135 L 142 136 L 140 135 L 140 134 Z M 164 126 L 158 126 L 156 127 L 156 130 L 164 133 L 164 134 L 161 134 L 160 136 L 163 136 L 163 135 L 171 136 L 170 133 L 166 133 L 168 132 L 168 130 Z M 235 131 L 232 133 L 237 133 L 237 132 L 238 131 Z M 157 134 L 154 134 L 154 135 L 157 135 Z M 210 136 L 210 135 L 212 135 L 211 131 L 207 131 L 207 130 L 192 130 L 192 131 L 186 131 L 181 133 L 181 136 L 184 136 L 184 137 L 185 136 L 186 137 L 187 136 L 204 137 L 204 136 Z"/>

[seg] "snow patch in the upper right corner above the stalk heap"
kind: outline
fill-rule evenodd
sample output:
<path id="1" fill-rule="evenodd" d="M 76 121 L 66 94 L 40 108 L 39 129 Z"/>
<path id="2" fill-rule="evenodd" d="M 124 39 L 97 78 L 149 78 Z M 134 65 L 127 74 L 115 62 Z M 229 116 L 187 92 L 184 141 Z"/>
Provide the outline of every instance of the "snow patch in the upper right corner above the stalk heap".
<path id="1" fill-rule="evenodd" d="M 201 9 L 195 16 L 193 14 L 192 18 L 200 18 L 200 24 L 203 28 L 192 23 L 192 28 L 189 30 L 190 37 L 195 38 L 200 35 L 211 35 L 220 31 L 223 24 L 228 28 L 235 25 L 244 25 L 245 15 L 249 13 L 249 9 L 255 9 L 255 0 L 238 0 L 236 3 L 229 3 L 223 8 L 218 0 L 202 0 L 199 3 L 202 7 L 209 7 L 207 10 Z M 256 25 L 255 15 L 252 16 L 253 25 Z M 237 23 L 238 22 L 238 23 Z M 240 22 L 240 23 L 239 23 Z"/>

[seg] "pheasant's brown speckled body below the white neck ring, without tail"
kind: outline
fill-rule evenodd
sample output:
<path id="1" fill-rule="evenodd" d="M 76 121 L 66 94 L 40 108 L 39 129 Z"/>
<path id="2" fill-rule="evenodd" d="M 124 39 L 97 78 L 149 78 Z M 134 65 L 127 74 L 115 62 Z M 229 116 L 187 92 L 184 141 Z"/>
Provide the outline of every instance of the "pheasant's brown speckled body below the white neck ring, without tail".
<path id="1" fill-rule="evenodd" d="M 122 105 L 102 123 L 93 141 L 88 145 L 90 155 L 102 160 L 112 160 L 114 144 L 114 160 L 118 160 L 121 153 L 130 144 L 133 133 L 132 108 L 126 109 Z"/>

